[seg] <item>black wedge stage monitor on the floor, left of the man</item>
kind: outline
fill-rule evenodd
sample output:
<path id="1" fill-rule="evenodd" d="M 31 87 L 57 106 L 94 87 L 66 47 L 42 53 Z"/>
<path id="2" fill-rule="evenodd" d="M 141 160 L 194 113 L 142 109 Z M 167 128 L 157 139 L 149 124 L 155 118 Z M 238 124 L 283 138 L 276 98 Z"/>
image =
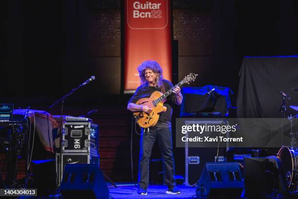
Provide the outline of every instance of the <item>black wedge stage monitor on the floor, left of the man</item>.
<path id="1" fill-rule="evenodd" d="M 63 199 L 109 199 L 109 189 L 98 164 L 66 164 L 61 182 Z"/>

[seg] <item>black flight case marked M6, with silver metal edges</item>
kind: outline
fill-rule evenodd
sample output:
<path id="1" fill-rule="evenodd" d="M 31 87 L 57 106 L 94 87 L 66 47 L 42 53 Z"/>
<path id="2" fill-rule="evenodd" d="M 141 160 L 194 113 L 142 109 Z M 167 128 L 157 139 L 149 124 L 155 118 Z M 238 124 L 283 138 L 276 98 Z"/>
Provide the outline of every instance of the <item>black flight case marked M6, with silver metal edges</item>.
<path id="1" fill-rule="evenodd" d="M 93 153 L 98 151 L 99 126 L 92 122 L 63 122 L 63 153 Z"/>

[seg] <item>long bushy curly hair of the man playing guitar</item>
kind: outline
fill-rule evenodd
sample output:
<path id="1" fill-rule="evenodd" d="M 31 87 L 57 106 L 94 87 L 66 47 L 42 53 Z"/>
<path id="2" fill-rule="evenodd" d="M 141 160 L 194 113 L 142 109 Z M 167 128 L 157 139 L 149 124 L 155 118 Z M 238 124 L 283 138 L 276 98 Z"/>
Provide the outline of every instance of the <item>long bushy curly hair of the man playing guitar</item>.
<path id="1" fill-rule="evenodd" d="M 161 87 L 163 85 L 163 69 L 160 67 L 160 65 L 154 61 L 154 60 L 147 60 L 141 63 L 141 65 L 138 66 L 137 70 L 139 71 L 139 77 L 141 84 L 147 83 L 147 80 L 145 78 L 145 71 L 149 69 L 152 70 L 156 74 L 156 83 L 158 87 Z"/>

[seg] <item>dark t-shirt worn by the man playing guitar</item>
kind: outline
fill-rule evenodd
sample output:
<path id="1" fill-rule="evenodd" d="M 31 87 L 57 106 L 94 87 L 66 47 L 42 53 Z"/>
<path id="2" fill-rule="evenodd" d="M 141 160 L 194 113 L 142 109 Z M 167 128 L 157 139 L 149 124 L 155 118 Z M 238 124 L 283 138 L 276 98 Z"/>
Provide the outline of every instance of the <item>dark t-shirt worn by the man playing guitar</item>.
<path id="1" fill-rule="evenodd" d="M 173 84 L 168 80 L 164 80 L 164 85 L 165 85 L 166 92 L 173 87 Z M 128 103 L 135 103 L 137 102 L 137 100 L 140 100 L 141 98 L 149 98 L 154 91 L 162 92 L 160 87 L 149 86 L 148 83 L 142 84 L 136 89 L 135 93 L 130 98 Z M 175 98 L 176 96 L 174 93 L 168 96 L 167 100 L 164 102 L 164 106 L 167 107 L 167 111 L 160 113 L 156 126 L 161 126 L 161 127 L 171 126 L 171 118 L 172 118 L 172 112 L 173 112 L 172 105 Z"/>

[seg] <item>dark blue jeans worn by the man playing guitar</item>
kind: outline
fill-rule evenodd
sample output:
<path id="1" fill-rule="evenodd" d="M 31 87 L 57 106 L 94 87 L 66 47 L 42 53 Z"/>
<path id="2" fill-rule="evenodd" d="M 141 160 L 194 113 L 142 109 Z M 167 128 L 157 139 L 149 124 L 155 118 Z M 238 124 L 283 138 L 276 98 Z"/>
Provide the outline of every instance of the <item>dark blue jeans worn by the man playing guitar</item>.
<path id="1" fill-rule="evenodd" d="M 164 179 L 168 187 L 174 187 L 176 181 L 175 163 L 172 150 L 172 130 L 170 127 L 153 126 L 146 129 L 146 132 L 141 136 L 140 140 L 140 159 L 139 159 L 139 186 L 147 188 L 149 184 L 149 160 L 151 150 L 155 139 L 158 141 L 158 146 L 161 151 L 164 166 Z"/>

